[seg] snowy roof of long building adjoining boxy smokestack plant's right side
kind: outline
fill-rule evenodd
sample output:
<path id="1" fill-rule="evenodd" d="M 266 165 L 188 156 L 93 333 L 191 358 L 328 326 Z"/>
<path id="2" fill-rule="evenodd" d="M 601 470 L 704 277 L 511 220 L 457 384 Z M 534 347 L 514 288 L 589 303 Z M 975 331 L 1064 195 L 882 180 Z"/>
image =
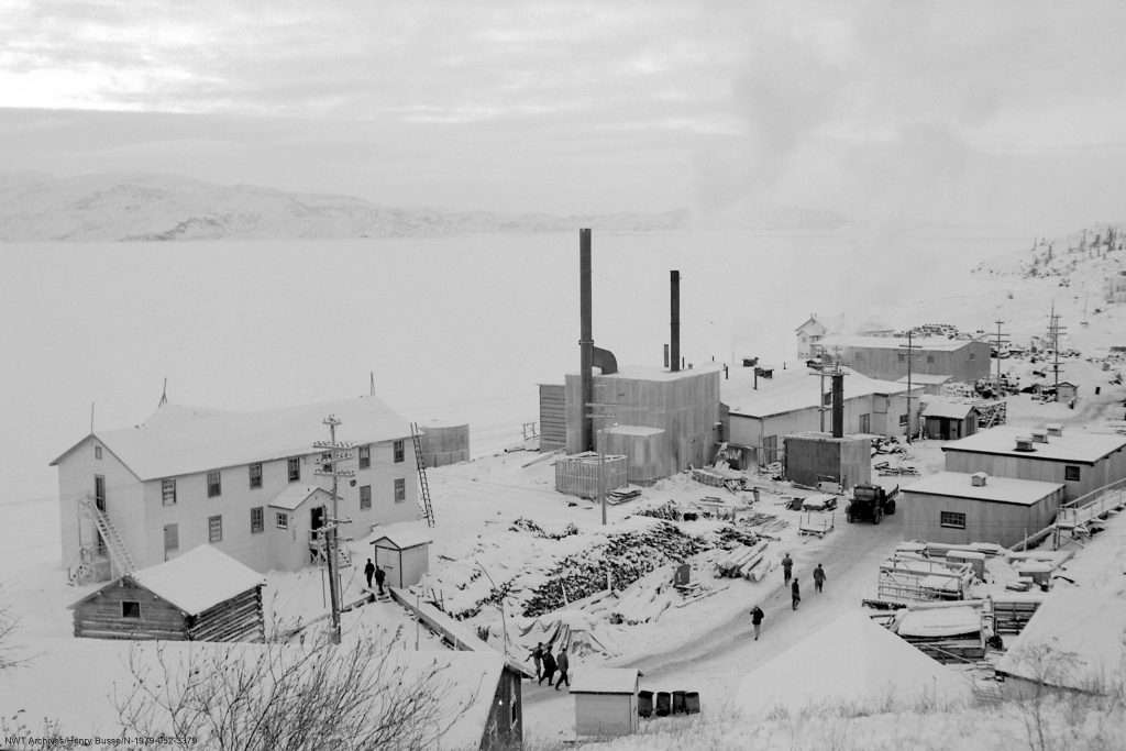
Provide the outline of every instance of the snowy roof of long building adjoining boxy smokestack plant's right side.
<path id="1" fill-rule="evenodd" d="M 904 394 L 906 386 L 891 381 L 878 381 L 843 368 L 844 399 L 859 399 L 873 394 Z M 829 378 L 825 378 L 825 393 Z M 774 378 L 759 378 L 758 388 L 753 378 L 740 377 L 720 382 L 720 401 L 732 414 L 744 417 L 770 417 L 795 410 L 816 409 L 820 400 L 821 376 L 815 370 L 798 367 L 775 370 Z"/>

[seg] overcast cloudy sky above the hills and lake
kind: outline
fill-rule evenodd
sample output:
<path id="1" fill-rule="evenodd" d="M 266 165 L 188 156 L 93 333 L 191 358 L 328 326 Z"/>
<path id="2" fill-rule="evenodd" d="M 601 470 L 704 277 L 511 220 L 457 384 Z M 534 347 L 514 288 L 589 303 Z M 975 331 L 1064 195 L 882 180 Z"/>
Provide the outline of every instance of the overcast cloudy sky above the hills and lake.
<path id="1" fill-rule="evenodd" d="M 0 170 L 498 212 L 1126 218 L 1126 3 L 0 0 Z"/>

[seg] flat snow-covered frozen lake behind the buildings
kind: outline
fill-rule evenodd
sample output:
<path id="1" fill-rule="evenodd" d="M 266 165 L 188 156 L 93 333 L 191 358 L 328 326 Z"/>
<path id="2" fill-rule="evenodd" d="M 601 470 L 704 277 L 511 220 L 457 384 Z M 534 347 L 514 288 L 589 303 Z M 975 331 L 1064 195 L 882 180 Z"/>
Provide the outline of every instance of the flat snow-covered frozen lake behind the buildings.
<path id="1" fill-rule="evenodd" d="M 677 269 L 688 361 L 778 363 L 810 313 L 882 320 L 1028 243 L 1004 230 L 596 230 L 595 342 L 659 367 Z M 406 419 L 468 420 L 480 448 L 518 438 L 538 419 L 536 384 L 579 364 L 578 231 L 9 244 L 0 258 L 0 502 L 53 495 L 48 463 L 87 433 L 91 403 L 96 427 L 140 423 L 166 377 L 172 402 L 256 410 L 366 394 L 372 373 Z"/>

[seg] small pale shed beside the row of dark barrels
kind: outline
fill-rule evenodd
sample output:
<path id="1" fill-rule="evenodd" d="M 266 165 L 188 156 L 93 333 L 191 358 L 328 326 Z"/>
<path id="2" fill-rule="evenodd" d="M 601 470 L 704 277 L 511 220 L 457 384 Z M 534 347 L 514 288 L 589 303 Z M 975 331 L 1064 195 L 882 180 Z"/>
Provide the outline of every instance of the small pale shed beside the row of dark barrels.
<path id="1" fill-rule="evenodd" d="M 634 668 L 580 668 L 574 671 L 574 728 L 579 737 L 637 732 L 637 680 Z"/>

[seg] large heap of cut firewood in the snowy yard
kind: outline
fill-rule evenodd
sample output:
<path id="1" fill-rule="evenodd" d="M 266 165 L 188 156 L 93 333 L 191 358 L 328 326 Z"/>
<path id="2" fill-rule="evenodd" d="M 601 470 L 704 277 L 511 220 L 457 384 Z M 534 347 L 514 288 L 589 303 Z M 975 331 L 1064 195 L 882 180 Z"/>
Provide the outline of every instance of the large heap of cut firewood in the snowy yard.
<path id="1" fill-rule="evenodd" d="M 615 588 L 624 588 L 658 566 L 686 561 L 708 547 L 704 539 L 667 522 L 614 535 L 605 546 L 570 555 L 547 572 L 547 581 L 525 600 L 522 615 L 540 616 L 606 589 L 607 572 Z"/>

